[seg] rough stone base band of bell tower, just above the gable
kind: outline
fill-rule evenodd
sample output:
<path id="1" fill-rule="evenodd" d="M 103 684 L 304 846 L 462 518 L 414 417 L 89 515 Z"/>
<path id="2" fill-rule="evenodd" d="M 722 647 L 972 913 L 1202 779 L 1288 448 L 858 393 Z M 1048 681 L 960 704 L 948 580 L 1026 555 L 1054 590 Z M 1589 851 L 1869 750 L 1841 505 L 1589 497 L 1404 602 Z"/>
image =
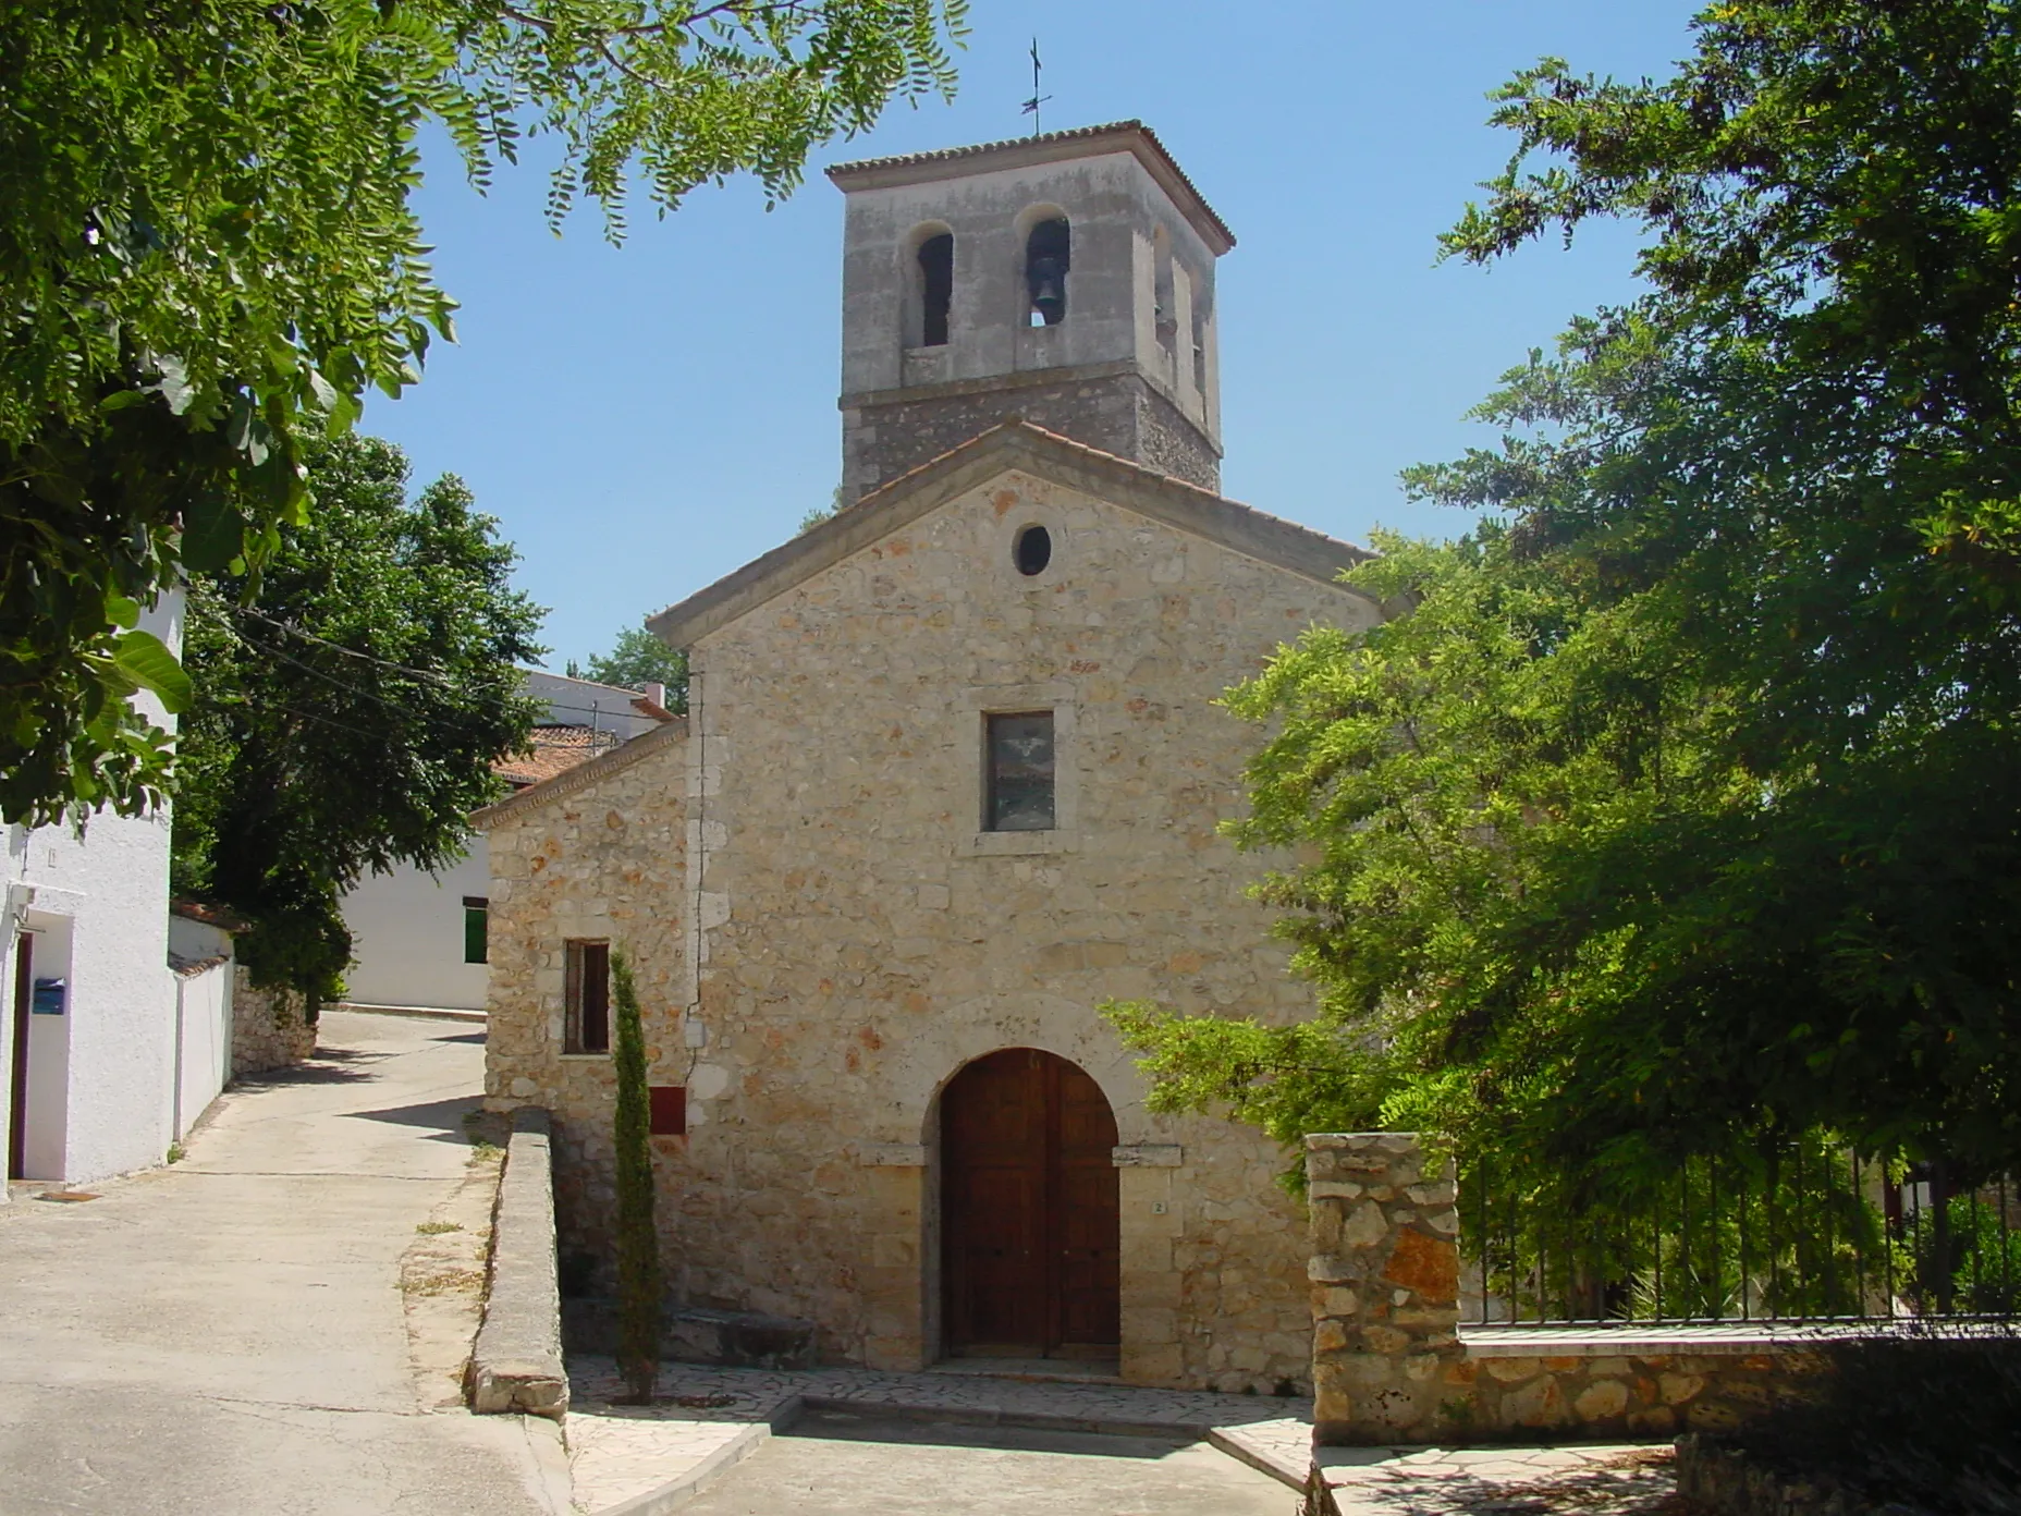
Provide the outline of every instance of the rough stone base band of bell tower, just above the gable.
<path id="1" fill-rule="evenodd" d="M 865 400 L 843 412 L 843 483 L 851 497 L 918 469 L 1008 416 L 1023 416 L 1174 479 L 1221 487 L 1221 455 L 1142 374 L 940 388 L 940 394 Z"/>

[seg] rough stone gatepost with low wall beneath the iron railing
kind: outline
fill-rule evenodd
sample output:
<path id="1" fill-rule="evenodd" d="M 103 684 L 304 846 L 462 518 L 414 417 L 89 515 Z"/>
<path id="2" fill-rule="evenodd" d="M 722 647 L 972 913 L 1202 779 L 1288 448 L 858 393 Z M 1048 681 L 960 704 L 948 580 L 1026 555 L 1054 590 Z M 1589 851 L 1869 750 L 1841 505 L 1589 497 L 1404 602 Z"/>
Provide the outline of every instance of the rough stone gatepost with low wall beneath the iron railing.
<path id="1" fill-rule="evenodd" d="M 1819 1368 L 1801 1346 L 1679 1350 L 1629 1328 L 1469 1344 L 1451 1162 L 1427 1176 L 1411 1134 L 1314 1134 L 1306 1174 L 1320 1443 L 1667 1439 L 1732 1427 Z"/>

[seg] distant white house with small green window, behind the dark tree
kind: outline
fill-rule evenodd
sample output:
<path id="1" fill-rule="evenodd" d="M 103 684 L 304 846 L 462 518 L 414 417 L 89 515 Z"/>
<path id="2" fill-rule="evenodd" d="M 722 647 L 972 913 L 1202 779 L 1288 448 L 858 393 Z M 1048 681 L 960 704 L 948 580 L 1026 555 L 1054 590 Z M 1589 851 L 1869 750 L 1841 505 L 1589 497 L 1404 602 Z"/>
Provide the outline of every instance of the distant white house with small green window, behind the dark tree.
<path id="1" fill-rule="evenodd" d="M 499 764 L 513 788 L 554 778 L 669 720 L 661 687 L 641 695 L 542 669 L 523 675 L 525 691 L 548 709 L 534 728 L 532 752 Z M 489 887 L 483 833 L 441 873 L 400 865 L 360 879 L 344 897 L 344 924 L 352 932 L 350 1005 L 483 1011 Z"/>

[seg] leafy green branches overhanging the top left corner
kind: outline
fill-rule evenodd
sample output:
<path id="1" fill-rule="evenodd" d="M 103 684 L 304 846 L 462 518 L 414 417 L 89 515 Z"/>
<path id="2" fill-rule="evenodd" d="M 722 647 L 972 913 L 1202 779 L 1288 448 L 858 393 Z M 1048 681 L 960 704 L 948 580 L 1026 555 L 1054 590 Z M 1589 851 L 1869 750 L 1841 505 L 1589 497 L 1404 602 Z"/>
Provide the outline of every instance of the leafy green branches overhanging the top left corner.
<path id="1" fill-rule="evenodd" d="M 620 236 L 952 91 L 962 0 L 0 0 L 0 815 L 141 811 L 178 699 L 135 606 L 255 574 L 303 465 L 451 334 L 410 194 L 439 121 L 483 186 L 560 146 L 550 218 Z"/>

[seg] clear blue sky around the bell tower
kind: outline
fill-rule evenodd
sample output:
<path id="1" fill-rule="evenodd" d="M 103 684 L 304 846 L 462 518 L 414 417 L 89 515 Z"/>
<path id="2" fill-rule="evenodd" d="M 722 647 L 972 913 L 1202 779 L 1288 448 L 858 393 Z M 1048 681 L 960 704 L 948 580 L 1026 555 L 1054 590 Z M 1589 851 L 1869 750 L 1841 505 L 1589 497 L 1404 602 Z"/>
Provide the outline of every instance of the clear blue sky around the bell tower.
<path id="1" fill-rule="evenodd" d="M 1435 267 L 1435 236 L 1514 139 L 1483 95 L 1560 55 L 1667 75 L 1677 0 L 976 0 L 954 105 L 893 109 L 816 150 L 792 200 L 697 190 L 612 249 L 594 208 L 542 220 L 538 154 L 479 196 L 428 152 L 420 214 L 463 309 L 459 344 L 378 400 L 416 483 L 459 473 L 550 606 L 550 665 L 792 536 L 839 475 L 843 196 L 821 166 L 1029 131 L 1033 32 L 1049 129 L 1142 117 L 1235 228 L 1219 267 L 1223 489 L 1362 542 L 1380 524 L 1457 536 L 1397 471 L 1494 437 L 1465 420 L 1574 311 L 1633 289 L 1627 228 L 1496 269 Z"/>

